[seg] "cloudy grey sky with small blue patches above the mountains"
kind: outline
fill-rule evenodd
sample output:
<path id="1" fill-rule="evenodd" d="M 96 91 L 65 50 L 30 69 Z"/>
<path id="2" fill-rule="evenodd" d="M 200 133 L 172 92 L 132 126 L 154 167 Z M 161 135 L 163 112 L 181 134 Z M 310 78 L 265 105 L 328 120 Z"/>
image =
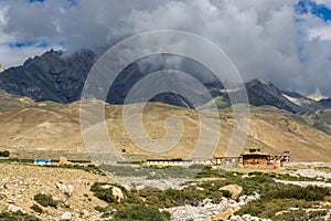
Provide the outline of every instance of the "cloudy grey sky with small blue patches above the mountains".
<path id="1" fill-rule="evenodd" d="M 331 96 L 330 0 L 0 0 L 0 63 L 160 29 L 212 41 L 245 81 Z"/>

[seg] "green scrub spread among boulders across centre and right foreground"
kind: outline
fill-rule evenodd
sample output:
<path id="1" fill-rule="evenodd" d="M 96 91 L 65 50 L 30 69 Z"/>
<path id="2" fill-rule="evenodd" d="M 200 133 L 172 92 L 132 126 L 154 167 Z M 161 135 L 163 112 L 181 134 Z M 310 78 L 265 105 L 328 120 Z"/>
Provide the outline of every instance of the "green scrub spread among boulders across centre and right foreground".
<path id="1" fill-rule="evenodd" d="M 150 169 L 150 171 L 158 170 L 164 171 L 160 168 L 153 170 Z M 149 170 L 147 169 L 146 171 Z M 196 180 L 195 183 L 192 183 L 192 181 L 185 183 L 181 190 L 168 189 L 161 191 L 157 188 L 147 187 L 142 190 L 132 189 L 128 191 L 120 186 L 99 182 L 94 183 L 90 190 L 96 197 L 107 201 L 109 208 L 117 209 L 117 213 L 113 212 L 115 213 L 116 220 L 132 220 L 136 215 L 141 215 L 140 219 L 146 220 L 143 215 L 146 215 L 147 209 L 154 208 L 154 212 L 158 211 L 157 214 L 159 215 L 158 209 L 184 204 L 199 206 L 204 199 L 211 199 L 213 203 L 218 203 L 222 201 L 222 198 L 231 197 L 228 191 L 220 190 L 227 185 L 238 185 L 243 187 L 243 194 L 258 192 L 261 196 L 259 200 L 244 206 L 237 214 L 249 213 L 260 218 L 274 218 L 273 220 L 287 220 L 286 218 L 291 215 L 301 215 L 302 211 L 306 217 L 310 215 L 310 220 L 314 220 L 314 217 L 322 214 L 323 211 L 307 213 L 306 209 L 319 208 L 320 201 L 328 201 L 331 199 L 330 188 L 301 188 L 292 185 L 279 183 L 274 180 L 285 179 L 299 181 L 314 180 L 313 178 L 291 177 L 289 175 L 257 171 L 244 175 L 225 170 L 214 170 L 211 167 L 201 169 L 201 172 L 197 173 L 196 178 L 201 179 L 199 179 L 199 181 Z M 122 190 L 125 199 L 120 203 L 113 197 L 111 188 L 105 188 L 107 185 L 119 187 Z M 290 210 L 290 208 L 296 208 L 296 210 Z M 104 208 L 99 209 L 100 211 L 106 211 Z M 282 213 L 281 211 L 285 212 Z M 104 213 L 109 215 L 111 212 L 108 211 Z M 163 218 L 156 219 L 162 220 Z"/>

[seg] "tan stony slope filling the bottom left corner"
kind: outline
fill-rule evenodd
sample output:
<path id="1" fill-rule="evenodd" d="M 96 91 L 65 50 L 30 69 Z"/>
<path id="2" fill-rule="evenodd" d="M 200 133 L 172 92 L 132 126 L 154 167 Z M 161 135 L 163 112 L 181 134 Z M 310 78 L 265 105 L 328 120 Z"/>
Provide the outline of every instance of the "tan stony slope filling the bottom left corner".
<path id="1" fill-rule="evenodd" d="M 0 164 L 0 207 L 1 210 L 24 211 L 42 220 L 96 220 L 100 213 L 96 206 L 106 202 L 89 191 L 96 181 L 109 182 L 109 178 L 78 169 L 46 168 L 32 165 Z M 43 208 L 39 214 L 30 207 L 36 203 L 38 193 L 51 194 L 58 207 Z"/>

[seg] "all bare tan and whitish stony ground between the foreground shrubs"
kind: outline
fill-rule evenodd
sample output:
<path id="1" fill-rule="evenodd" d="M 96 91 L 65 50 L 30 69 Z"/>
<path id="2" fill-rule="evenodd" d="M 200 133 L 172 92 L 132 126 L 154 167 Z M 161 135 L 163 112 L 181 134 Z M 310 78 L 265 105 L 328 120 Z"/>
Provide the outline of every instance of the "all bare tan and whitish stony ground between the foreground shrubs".
<path id="1" fill-rule="evenodd" d="M 330 186 L 330 165 L 290 165 L 281 170 L 273 170 L 273 172 L 289 172 L 291 176 L 301 176 L 316 178 L 316 181 L 289 181 L 276 180 L 278 182 L 291 183 L 298 186 Z M 254 169 L 249 169 L 254 170 Z M 106 207 L 107 203 L 99 200 L 90 191 L 90 187 L 95 182 L 110 182 L 111 179 L 106 176 L 95 175 L 90 171 L 82 169 L 68 169 L 57 167 L 42 167 L 28 164 L 0 164 L 0 211 L 10 210 L 33 214 L 42 220 L 103 220 L 102 213 L 94 208 Z M 130 179 L 129 181 L 134 181 Z M 117 180 L 118 181 L 118 180 Z M 180 180 L 143 180 L 139 179 L 139 183 L 131 183 L 135 189 L 143 189 L 159 183 L 160 189 L 183 188 Z M 195 180 L 197 181 L 197 180 Z M 124 185 L 124 183 L 121 183 Z M 191 183 L 196 185 L 196 183 Z M 124 185 L 125 186 L 125 185 Z M 221 189 L 220 189 L 221 190 Z M 212 203 L 205 199 L 197 207 L 183 206 L 166 209 L 171 213 L 173 221 L 212 221 L 212 220 L 233 220 L 233 221 L 261 221 L 263 219 L 244 214 L 242 217 L 234 215 L 244 204 L 259 199 L 258 193 L 245 196 L 242 193 L 243 188 L 237 185 L 229 185 L 222 188 L 232 192 L 232 199 L 222 198 L 220 203 Z M 42 213 L 38 213 L 31 209 L 36 204 L 33 199 L 38 193 L 51 194 L 57 202 L 57 208 L 47 207 Z M 331 213 L 331 211 L 329 211 Z M 330 214 L 329 214 L 330 217 Z"/>

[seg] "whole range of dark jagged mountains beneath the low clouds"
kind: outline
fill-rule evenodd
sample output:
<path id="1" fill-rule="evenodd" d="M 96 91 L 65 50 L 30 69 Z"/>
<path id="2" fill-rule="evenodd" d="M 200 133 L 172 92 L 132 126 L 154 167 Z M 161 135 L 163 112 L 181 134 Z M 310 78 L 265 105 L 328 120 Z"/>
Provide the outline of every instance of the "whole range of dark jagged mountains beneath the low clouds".
<path id="1" fill-rule="evenodd" d="M 142 61 L 145 64 L 152 65 L 147 69 L 141 69 L 139 65 L 141 61 L 128 65 L 115 80 L 109 88 L 106 102 L 110 104 L 124 104 L 131 87 L 143 78 L 146 75 L 160 71 L 171 70 L 172 64 L 162 63 L 162 56 L 151 57 L 150 61 Z M 65 55 L 62 52 L 49 51 L 41 56 L 29 59 L 23 65 L 11 67 L 3 71 L 0 75 L 0 90 L 4 90 L 11 94 L 28 96 L 34 101 L 53 101 L 60 103 L 71 103 L 81 98 L 82 88 L 86 76 L 96 62 L 98 55 L 93 51 L 82 50 L 71 55 Z M 171 56 L 166 56 L 163 61 Z M 169 66 L 167 66 L 169 65 Z M 192 90 L 192 93 L 201 95 L 200 106 L 210 102 L 211 95 L 213 98 L 217 96 L 225 97 L 228 102 L 228 94 L 224 91 L 221 82 L 216 82 L 215 77 L 205 67 L 199 66 L 193 61 L 182 59 L 182 65 L 179 70 L 197 78 L 199 82 L 214 82 L 203 83 L 207 91 L 203 94 L 195 92 L 190 85 L 180 85 L 181 90 Z M 206 77 L 209 76 L 209 77 Z M 106 76 L 105 76 L 106 77 Z M 206 81 L 205 78 L 209 78 Z M 168 77 L 164 81 L 154 82 L 154 87 L 162 84 L 178 84 L 178 80 Z M 109 86 L 109 85 L 107 85 Z M 274 84 L 260 80 L 253 80 L 245 84 L 249 104 L 254 106 L 270 105 L 292 113 L 314 112 L 320 108 L 330 107 L 330 99 L 314 102 L 298 93 L 282 92 Z M 228 93 L 242 93 L 243 85 L 239 90 Z M 108 88 L 104 88 L 107 90 Z M 191 93 L 191 91 L 190 91 Z M 96 97 L 98 98 L 98 97 Z M 136 97 L 134 102 L 161 102 L 182 107 L 193 107 L 191 101 L 180 94 L 162 93 L 152 98 Z M 235 102 L 234 102 L 235 103 Z M 196 105 L 196 104 L 195 104 Z"/>

